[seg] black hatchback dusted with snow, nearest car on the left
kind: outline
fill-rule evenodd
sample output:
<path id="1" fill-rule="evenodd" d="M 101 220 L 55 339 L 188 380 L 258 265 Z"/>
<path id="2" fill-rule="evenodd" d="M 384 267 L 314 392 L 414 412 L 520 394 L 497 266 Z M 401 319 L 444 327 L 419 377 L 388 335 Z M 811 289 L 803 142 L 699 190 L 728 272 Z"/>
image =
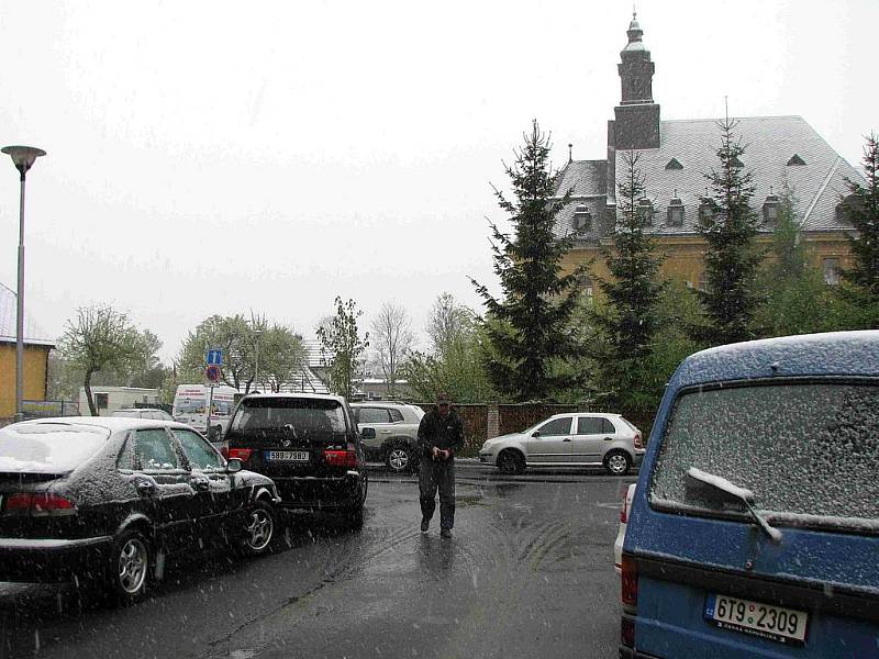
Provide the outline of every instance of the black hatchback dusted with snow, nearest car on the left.
<path id="1" fill-rule="evenodd" d="M 222 540 L 269 550 L 277 489 L 180 423 L 122 417 L 0 428 L 0 580 L 109 587 L 122 602 L 165 557 Z"/>

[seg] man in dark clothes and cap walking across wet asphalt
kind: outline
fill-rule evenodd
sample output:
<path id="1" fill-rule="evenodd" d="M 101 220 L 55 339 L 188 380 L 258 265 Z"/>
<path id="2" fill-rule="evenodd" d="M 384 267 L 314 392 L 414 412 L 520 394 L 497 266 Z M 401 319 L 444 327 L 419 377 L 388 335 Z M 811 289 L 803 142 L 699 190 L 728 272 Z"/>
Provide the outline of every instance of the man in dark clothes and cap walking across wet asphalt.
<path id="1" fill-rule="evenodd" d="M 436 510 L 436 490 L 439 489 L 439 535 L 452 537 L 455 526 L 455 453 L 464 448 L 464 424 L 448 400 L 448 394 L 436 396 L 436 406 L 427 412 L 419 425 L 421 466 L 421 532 L 427 533 Z"/>

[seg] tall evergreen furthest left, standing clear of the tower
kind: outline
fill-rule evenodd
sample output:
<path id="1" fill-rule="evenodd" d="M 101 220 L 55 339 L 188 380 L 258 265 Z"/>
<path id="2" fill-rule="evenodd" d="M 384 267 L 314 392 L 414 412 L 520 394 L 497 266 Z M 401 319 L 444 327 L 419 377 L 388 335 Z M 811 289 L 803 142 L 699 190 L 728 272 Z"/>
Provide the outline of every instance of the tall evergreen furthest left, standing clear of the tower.
<path id="1" fill-rule="evenodd" d="M 515 163 L 505 167 L 515 200 L 494 189 L 515 233 L 511 238 L 491 224 L 494 272 L 503 298 L 496 299 L 471 279 L 488 310 L 488 354 L 494 355 L 486 360 L 489 377 L 500 393 L 518 401 L 545 400 L 569 386 L 572 376 L 557 367 L 579 351 L 569 321 L 581 270 L 561 275 L 561 257 L 574 238 L 554 233 L 556 215 L 570 194 L 552 199 L 557 179 L 549 170 L 549 150 L 548 137 L 534 121 Z"/>

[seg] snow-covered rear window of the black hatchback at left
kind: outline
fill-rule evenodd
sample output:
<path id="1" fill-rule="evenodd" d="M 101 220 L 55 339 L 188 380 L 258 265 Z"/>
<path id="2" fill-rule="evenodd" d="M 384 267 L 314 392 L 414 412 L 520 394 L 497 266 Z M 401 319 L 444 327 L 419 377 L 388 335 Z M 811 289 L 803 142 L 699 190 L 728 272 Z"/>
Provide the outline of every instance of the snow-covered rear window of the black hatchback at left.
<path id="1" fill-rule="evenodd" d="M 16 424 L 0 428 L 0 472 L 63 473 L 93 456 L 110 437 L 104 428 Z"/>

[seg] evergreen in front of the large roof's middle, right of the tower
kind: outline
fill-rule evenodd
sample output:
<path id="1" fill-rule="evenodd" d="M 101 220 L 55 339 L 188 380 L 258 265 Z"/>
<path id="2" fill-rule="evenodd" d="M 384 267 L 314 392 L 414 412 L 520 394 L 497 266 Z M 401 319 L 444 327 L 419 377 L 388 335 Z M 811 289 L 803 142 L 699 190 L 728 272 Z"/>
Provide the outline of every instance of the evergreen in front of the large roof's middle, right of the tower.
<path id="1" fill-rule="evenodd" d="M 694 338 L 720 345 L 754 337 L 753 319 L 759 304 L 755 278 L 760 255 L 755 248 L 757 219 L 750 209 L 754 174 L 745 170 L 745 147 L 734 130 L 737 122 L 720 122 L 720 168 L 705 175 L 712 192 L 702 198 L 699 233 L 708 242 L 706 289 L 699 298 L 708 321 L 693 327 Z"/>

